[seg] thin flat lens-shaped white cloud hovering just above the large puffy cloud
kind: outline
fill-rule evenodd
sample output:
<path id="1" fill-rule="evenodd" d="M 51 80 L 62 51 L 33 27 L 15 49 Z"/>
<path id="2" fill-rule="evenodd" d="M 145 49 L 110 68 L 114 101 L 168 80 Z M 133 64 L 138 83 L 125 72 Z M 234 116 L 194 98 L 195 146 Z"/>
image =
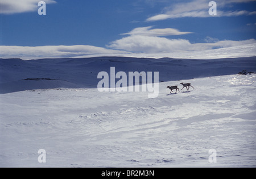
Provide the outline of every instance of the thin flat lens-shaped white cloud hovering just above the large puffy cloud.
<path id="1" fill-rule="evenodd" d="M 192 33 L 192 32 L 180 32 L 175 28 L 153 28 L 153 29 L 151 28 L 152 26 L 138 27 L 122 35 L 169 36 L 169 35 L 184 35 L 184 34 Z"/>

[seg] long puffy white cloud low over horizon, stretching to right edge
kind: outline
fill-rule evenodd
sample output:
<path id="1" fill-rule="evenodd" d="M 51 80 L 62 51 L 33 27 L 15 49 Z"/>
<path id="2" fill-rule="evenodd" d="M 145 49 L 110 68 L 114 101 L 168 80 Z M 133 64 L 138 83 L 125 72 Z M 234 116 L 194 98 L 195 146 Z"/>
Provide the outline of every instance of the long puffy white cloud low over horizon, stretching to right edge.
<path id="1" fill-rule="evenodd" d="M 234 47 L 237 45 L 256 43 L 256 40 L 222 40 L 206 38 L 207 43 L 190 43 L 185 39 L 167 39 L 156 36 L 132 35 L 112 41 L 109 48 L 140 53 L 169 53 L 177 51 L 203 51 L 208 49 Z"/>

